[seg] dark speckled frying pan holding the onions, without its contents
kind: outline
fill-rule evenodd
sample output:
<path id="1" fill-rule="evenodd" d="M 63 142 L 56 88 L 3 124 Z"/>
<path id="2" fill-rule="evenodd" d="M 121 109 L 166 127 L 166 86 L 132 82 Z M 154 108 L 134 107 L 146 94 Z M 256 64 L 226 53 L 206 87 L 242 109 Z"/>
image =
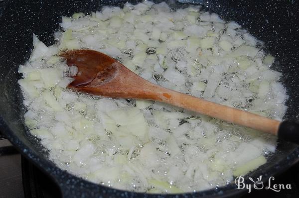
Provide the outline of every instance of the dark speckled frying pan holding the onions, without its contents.
<path id="1" fill-rule="evenodd" d="M 6 0 L 4 0 L 6 1 Z M 181 0 L 188 1 L 188 0 Z M 249 32 L 265 41 L 266 50 L 276 57 L 274 69 L 283 73 L 282 83 L 290 96 L 286 119 L 296 121 L 299 114 L 299 4 L 295 0 L 192 0 L 203 9 L 225 20 L 237 21 Z M 47 151 L 23 125 L 25 112 L 17 84 L 19 64 L 28 60 L 32 50 L 32 33 L 46 45 L 55 43 L 53 33 L 59 29 L 60 16 L 74 12 L 90 13 L 103 5 L 122 5 L 126 0 L 10 0 L 0 15 L 0 131 L 8 140 L 59 186 L 65 198 L 195 198 L 232 197 L 246 193 L 234 183 L 217 189 L 180 195 L 148 195 L 111 189 L 93 184 L 63 171 L 47 159 Z M 137 3 L 138 0 L 132 1 Z M 172 1 L 174 3 L 174 1 Z M 186 4 L 175 2 L 175 6 Z M 299 161 L 298 145 L 278 142 L 277 152 L 268 162 L 250 173 L 263 182 L 283 173 Z M 247 178 L 247 177 L 245 177 Z M 247 180 L 246 180 L 247 181 Z M 247 181 L 249 183 L 249 181 Z"/>

